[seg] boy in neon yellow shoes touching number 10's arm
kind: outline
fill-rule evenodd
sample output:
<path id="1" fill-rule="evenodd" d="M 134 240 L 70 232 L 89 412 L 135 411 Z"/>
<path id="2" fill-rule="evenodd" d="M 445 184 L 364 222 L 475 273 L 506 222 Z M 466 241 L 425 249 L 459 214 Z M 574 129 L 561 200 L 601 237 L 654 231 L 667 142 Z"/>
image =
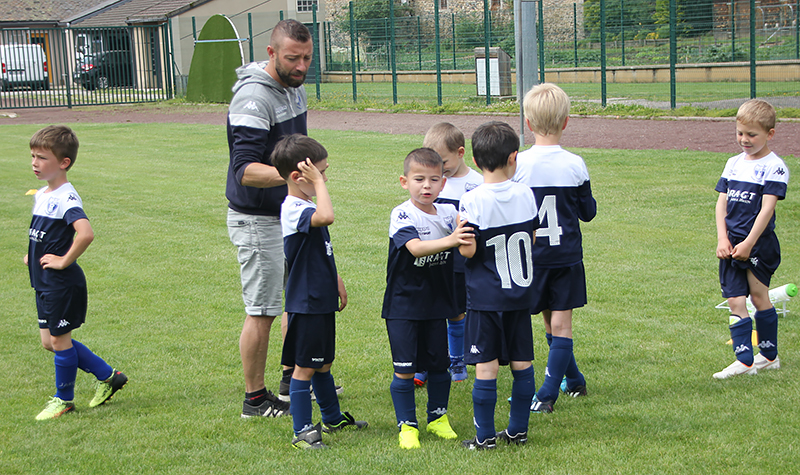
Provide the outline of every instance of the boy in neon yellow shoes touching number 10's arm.
<path id="1" fill-rule="evenodd" d="M 445 439 L 458 436 L 450 426 L 447 405 L 447 319 L 458 314 L 453 288 L 455 247 L 467 243 L 470 229 L 458 222 L 450 205 L 436 203 L 445 183 L 442 159 L 429 148 L 405 159 L 400 184 L 410 199 L 392 210 L 386 292 L 386 319 L 394 378 L 389 387 L 400 447 L 419 448 L 414 373 L 428 374 L 427 431 Z"/>

